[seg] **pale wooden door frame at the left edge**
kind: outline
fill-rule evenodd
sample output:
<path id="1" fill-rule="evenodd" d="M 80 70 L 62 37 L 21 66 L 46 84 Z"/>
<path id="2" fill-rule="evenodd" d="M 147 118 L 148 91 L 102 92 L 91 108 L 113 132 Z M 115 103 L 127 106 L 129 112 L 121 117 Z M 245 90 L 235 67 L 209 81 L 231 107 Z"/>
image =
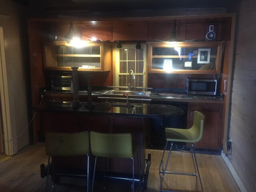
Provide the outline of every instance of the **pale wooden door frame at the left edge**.
<path id="1" fill-rule="evenodd" d="M 3 141 L 4 152 L 10 156 L 14 154 L 11 120 L 10 120 L 10 105 L 8 95 L 8 83 L 6 73 L 6 60 L 4 52 L 4 31 L 0 26 L 0 100 L 1 100 L 1 114 L 2 114 L 2 126 L 3 126 Z"/>

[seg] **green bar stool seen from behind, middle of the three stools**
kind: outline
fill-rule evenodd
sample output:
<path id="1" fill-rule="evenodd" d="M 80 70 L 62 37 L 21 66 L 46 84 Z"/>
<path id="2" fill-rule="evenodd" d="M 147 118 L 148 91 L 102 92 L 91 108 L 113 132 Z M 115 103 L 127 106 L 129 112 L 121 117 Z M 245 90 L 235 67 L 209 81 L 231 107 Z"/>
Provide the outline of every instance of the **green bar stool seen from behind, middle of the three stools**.
<path id="1" fill-rule="evenodd" d="M 90 143 L 91 151 L 95 157 L 94 172 L 92 178 L 92 192 L 94 187 L 94 177 L 96 170 L 97 157 L 105 158 L 131 158 L 132 159 L 132 192 L 134 192 L 134 156 L 137 152 L 138 165 L 139 154 L 138 144 L 132 143 L 132 134 L 110 134 L 110 133 L 99 133 L 90 132 Z M 140 166 L 139 171 L 139 182 L 140 182 Z"/>

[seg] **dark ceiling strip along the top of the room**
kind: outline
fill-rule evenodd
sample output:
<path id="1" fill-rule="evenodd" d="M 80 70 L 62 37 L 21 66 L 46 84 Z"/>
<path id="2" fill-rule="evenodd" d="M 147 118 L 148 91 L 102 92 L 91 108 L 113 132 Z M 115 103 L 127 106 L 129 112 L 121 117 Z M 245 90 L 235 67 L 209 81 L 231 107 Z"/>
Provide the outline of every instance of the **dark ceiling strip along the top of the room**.
<path id="1" fill-rule="evenodd" d="M 12 0 L 41 12 L 109 12 L 178 8 L 229 7 L 235 0 Z"/>

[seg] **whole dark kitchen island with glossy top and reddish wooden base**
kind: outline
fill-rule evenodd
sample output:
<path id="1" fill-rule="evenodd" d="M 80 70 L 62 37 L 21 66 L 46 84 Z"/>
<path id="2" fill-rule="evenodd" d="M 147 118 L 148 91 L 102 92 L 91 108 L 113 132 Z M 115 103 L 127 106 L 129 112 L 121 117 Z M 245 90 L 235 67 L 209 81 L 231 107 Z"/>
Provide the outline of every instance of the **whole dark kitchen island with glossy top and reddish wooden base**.
<path id="1" fill-rule="evenodd" d="M 135 161 L 134 170 L 140 167 L 140 174 L 144 178 L 146 187 L 150 157 L 146 159 L 146 135 L 150 126 L 150 118 L 165 118 L 180 116 L 184 112 L 181 108 L 165 104 L 130 104 L 124 103 L 118 106 L 116 103 L 94 103 L 93 109 L 82 107 L 72 108 L 71 102 L 45 102 L 35 106 L 33 110 L 40 112 L 41 128 L 38 136 L 43 140 L 45 132 L 82 132 L 96 131 L 105 133 L 132 133 L 134 142 L 138 142 L 139 162 Z M 136 157 L 135 157 L 136 158 Z M 86 169 L 86 158 L 59 158 L 58 166 L 68 167 L 74 170 Z M 93 161 L 91 161 L 93 162 Z M 129 159 L 99 159 L 98 171 L 112 174 L 132 173 L 132 165 Z M 125 166 L 124 166 L 125 165 Z M 44 175 L 44 169 L 43 169 Z M 138 171 L 136 172 L 138 174 Z M 118 177 L 120 177 L 118 175 Z"/>

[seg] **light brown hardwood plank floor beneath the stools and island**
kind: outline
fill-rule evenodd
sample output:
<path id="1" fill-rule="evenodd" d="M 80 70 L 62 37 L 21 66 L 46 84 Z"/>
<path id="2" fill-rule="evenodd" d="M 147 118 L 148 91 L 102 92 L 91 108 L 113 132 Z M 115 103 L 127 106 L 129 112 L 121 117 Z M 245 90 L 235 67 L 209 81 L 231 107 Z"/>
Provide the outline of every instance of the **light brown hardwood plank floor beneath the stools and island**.
<path id="1" fill-rule="evenodd" d="M 146 150 L 151 154 L 150 174 L 146 192 L 158 192 L 161 174 L 158 173 L 161 150 Z M 191 154 L 187 152 L 173 152 L 170 159 L 174 171 L 194 171 Z M 166 154 L 167 156 L 167 154 Z M 240 192 L 234 178 L 228 170 L 221 156 L 196 154 L 198 166 L 205 192 Z M 15 156 L 0 157 L 0 191 L 1 192 L 44 192 L 46 178 L 40 177 L 40 164 L 47 164 L 47 156 L 43 143 L 30 145 L 18 152 Z M 183 169 L 183 170 L 182 170 Z M 67 184 L 66 184 L 67 183 Z M 131 191 L 130 182 L 116 184 L 116 181 L 106 182 L 105 191 Z M 120 184 L 120 183 L 119 183 Z M 109 189 L 108 186 L 111 186 Z M 97 188 L 98 187 L 98 188 Z M 177 176 L 166 174 L 164 188 L 172 188 L 183 192 L 200 191 L 199 180 L 193 176 Z M 94 191 L 100 191 L 102 184 L 96 182 Z M 50 190 L 49 190 L 50 191 Z M 56 185 L 54 192 L 86 191 L 86 179 L 62 178 Z M 138 185 L 136 185 L 138 191 Z"/>

